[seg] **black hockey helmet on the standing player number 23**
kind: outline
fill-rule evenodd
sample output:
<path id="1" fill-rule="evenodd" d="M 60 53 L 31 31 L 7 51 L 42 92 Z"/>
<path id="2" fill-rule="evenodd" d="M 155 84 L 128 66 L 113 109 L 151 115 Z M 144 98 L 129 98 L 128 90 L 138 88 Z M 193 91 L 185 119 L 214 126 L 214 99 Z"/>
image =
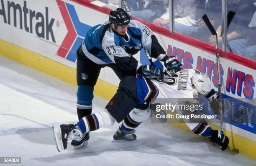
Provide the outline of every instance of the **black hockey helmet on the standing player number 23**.
<path id="1" fill-rule="evenodd" d="M 130 23 L 130 16 L 125 12 L 125 10 L 117 8 L 109 13 L 108 20 L 110 23 L 114 23 L 116 28 L 117 26 L 124 26 Z"/>

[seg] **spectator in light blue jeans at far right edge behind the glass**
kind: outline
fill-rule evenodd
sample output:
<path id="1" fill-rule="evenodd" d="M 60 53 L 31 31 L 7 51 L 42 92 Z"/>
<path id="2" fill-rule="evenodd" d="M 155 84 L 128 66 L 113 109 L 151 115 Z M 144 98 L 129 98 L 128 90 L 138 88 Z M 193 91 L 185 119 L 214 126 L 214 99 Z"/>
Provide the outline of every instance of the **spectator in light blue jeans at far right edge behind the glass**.
<path id="1" fill-rule="evenodd" d="M 256 61 L 256 12 L 248 27 L 249 31 L 246 32 L 248 37 L 229 41 L 228 49 L 235 54 Z"/>

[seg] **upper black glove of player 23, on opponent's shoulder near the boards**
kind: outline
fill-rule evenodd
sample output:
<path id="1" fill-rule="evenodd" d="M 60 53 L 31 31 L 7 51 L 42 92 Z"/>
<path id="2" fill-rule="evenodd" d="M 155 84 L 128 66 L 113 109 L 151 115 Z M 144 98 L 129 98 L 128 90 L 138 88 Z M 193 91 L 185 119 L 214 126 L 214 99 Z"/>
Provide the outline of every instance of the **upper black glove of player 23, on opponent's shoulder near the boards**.
<path id="1" fill-rule="evenodd" d="M 175 73 L 182 70 L 182 64 L 175 59 L 174 56 L 165 56 L 162 61 L 164 62 L 164 66 L 166 67 L 167 71 L 173 76 Z"/>

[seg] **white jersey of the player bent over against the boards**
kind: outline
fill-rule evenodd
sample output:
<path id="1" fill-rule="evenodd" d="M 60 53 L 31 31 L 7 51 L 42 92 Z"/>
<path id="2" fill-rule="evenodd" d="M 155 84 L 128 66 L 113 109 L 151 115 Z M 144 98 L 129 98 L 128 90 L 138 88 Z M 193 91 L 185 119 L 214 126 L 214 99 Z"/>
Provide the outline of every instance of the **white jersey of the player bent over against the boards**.
<path id="1" fill-rule="evenodd" d="M 176 104 L 180 102 L 188 102 L 189 104 L 199 104 L 198 93 L 196 89 L 192 88 L 192 77 L 200 73 L 195 69 L 184 69 L 177 72 L 174 77 L 164 75 L 164 81 L 159 82 L 155 79 L 145 79 L 144 77 L 137 77 L 137 95 L 140 103 Z M 144 89 L 143 89 L 144 88 Z M 182 100 L 184 99 L 184 100 Z M 190 100 L 191 99 L 191 100 Z M 175 109 L 179 115 L 183 115 L 181 110 Z M 186 115 L 189 114 L 185 112 Z M 187 114 L 188 113 L 188 114 Z M 192 113 L 192 112 L 190 112 Z M 211 135 L 210 125 L 205 123 L 204 119 L 198 119 L 197 122 L 192 122 L 183 119 L 192 132 L 208 137 Z"/>

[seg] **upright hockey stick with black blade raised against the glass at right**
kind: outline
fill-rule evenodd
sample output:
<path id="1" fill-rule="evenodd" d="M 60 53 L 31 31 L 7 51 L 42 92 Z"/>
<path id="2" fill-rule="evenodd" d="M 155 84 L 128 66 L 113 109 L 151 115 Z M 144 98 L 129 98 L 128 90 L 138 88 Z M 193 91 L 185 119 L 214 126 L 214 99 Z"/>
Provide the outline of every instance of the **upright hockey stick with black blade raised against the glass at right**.
<path id="1" fill-rule="evenodd" d="M 219 107 L 220 131 L 223 132 L 223 114 L 222 114 L 221 84 L 220 84 L 220 55 L 219 55 L 219 48 L 218 48 L 218 36 L 206 14 L 202 16 L 202 19 L 205 21 L 205 24 L 210 30 L 210 32 L 212 33 L 212 36 L 214 37 L 214 41 L 215 41 L 216 63 L 217 63 L 217 73 L 218 73 L 218 97 L 219 97 L 219 103 L 220 103 L 220 107 Z"/>

